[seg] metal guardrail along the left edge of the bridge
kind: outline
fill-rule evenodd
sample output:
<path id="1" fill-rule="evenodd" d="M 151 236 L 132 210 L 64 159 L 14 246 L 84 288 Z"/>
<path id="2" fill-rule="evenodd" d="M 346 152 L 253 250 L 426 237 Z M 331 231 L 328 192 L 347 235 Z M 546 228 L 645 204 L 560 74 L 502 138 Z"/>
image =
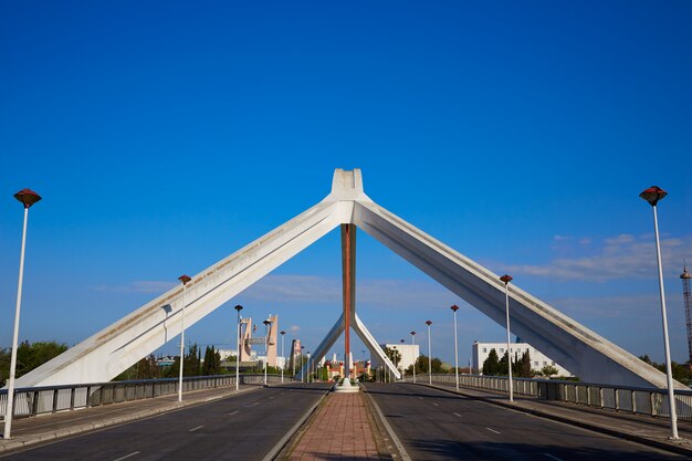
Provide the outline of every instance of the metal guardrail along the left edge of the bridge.
<path id="1" fill-rule="evenodd" d="M 268 384 L 280 384 L 281 375 L 268 375 Z M 284 383 L 296 379 L 284 376 Z M 261 386 L 264 374 L 240 375 L 241 385 Z M 182 379 L 182 391 L 235 386 L 235 375 L 195 376 Z M 45 386 L 14 389 L 15 418 L 78 410 L 101 405 L 148 399 L 178 394 L 178 378 L 109 381 L 83 385 Z M 4 419 L 8 390 L 0 390 L 0 419 Z"/>

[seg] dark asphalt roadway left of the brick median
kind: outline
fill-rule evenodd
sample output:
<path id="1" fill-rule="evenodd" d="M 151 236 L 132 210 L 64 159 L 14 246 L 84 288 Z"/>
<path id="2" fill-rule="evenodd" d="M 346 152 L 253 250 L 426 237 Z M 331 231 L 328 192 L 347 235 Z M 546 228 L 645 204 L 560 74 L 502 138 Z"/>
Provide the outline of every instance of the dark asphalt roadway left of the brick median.
<path id="1" fill-rule="evenodd" d="M 262 460 L 326 385 L 264 388 L 14 452 L 7 460 Z"/>

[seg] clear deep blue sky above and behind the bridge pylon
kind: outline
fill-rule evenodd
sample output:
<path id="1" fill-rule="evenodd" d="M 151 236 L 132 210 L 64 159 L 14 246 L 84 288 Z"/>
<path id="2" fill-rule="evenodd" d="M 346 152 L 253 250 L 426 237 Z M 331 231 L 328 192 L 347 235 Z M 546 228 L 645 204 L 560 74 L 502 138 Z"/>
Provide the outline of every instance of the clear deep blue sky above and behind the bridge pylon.
<path id="1" fill-rule="evenodd" d="M 0 346 L 73 345 L 316 203 L 361 168 L 390 211 L 636 355 L 688 358 L 692 3 L 4 2 Z M 3 198 L 2 198 L 3 197 Z M 189 329 L 234 312 L 314 348 L 339 311 L 335 232 Z M 433 323 L 452 360 L 503 329 L 365 233 L 358 312 L 380 342 Z M 171 344 L 168 349 L 175 350 Z M 359 346 L 356 345 L 355 349 Z M 423 348 L 424 352 L 424 348 Z M 359 350 L 356 355 L 360 355 Z"/>

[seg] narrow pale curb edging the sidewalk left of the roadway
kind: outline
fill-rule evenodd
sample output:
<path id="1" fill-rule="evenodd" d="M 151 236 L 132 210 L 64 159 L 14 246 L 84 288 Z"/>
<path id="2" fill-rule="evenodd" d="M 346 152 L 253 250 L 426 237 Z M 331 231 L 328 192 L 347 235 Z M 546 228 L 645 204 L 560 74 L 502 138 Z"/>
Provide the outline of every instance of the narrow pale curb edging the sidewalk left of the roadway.
<path id="1" fill-rule="evenodd" d="M 248 394 L 254 390 L 259 390 L 261 388 L 262 386 L 240 389 L 238 391 L 233 389 L 232 391 L 222 392 L 217 396 L 203 397 L 199 399 L 192 399 L 193 394 L 189 394 L 188 397 L 190 397 L 190 400 L 184 400 L 181 402 L 175 401 L 175 402 L 166 404 L 158 408 L 151 408 L 151 409 L 134 412 L 130 415 L 111 417 L 111 418 L 95 421 L 95 422 L 87 422 L 87 423 L 83 423 L 78 426 L 73 426 L 69 429 L 51 430 L 51 431 L 46 431 L 43 433 L 36 433 L 32 436 L 27 436 L 27 437 L 20 436 L 20 437 L 9 439 L 9 440 L 0 439 L 0 453 L 8 453 L 10 451 L 31 447 L 34 444 L 50 442 L 50 441 L 57 440 L 57 439 L 65 438 L 65 437 L 73 437 L 73 436 L 77 436 L 80 433 L 84 433 L 84 432 L 88 432 L 93 430 L 99 430 L 99 429 L 105 429 L 105 428 L 113 427 L 113 426 L 124 425 L 127 422 L 133 422 L 133 421 L 145 419 L 145 418 L 150 418 L 153 416 L 157 416 L 160 413 L 181 410 L 184 408 L 192 407 L 196 405 L 207 404 L 207 402 L 220 400 L 227 397 L 233 397 L 233 396 L 239 396 L 242 394 Z"/>

